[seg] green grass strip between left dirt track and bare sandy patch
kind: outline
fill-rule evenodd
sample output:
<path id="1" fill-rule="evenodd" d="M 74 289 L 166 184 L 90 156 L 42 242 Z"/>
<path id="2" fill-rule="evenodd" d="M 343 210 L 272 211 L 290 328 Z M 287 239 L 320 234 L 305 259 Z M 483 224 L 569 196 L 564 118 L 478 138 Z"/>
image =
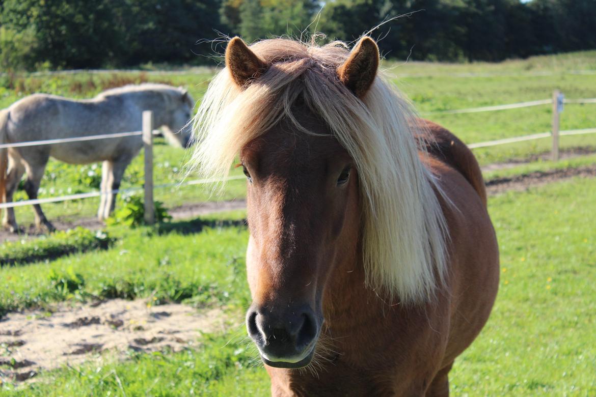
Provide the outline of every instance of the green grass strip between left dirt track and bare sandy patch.
<path id="1" fill-rule="evenodd" d="M 238 220 L 244 213 L 230 212 L 229 217 Z M 204 218 L 203 224 L 212 224 L 209 219 Z M 191 233 L 202 225 L 188 226 L 189 222 L 132 230 L 114 227 L 108 230 L 117 242 L 107 251 L 3 267 L 0 314 L 67 299 L 147 296 L 154 296 L 158 303 L 246 305 L 246 227 L 218 227 L 213 223 L 212 228 Z M 56 279 L 70 280 L 74 286 L 63 289 L 56 285 Z"/>

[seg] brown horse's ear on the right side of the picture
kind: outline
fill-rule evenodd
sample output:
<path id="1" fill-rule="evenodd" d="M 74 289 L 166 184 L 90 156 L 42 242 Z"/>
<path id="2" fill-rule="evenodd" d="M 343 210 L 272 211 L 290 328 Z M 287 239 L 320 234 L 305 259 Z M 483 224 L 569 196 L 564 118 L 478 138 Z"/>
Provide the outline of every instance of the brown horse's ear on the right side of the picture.
<path id="1" fill-rule="evenodd" d="M 343 65 L 337 68 L 340 82 L 362 98 L 377 76 L 378 58 L 377 43 L 368 36 L 362 37 Z"/>

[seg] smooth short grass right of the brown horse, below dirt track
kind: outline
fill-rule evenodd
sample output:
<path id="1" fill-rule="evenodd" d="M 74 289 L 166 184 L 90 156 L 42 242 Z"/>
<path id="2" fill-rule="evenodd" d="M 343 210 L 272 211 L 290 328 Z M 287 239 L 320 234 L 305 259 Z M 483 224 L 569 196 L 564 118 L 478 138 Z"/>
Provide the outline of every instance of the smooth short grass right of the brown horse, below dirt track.
<path id="1" fill-rule="evenodd" d="M 596 394 L 596 180 L 492 198 L 501 289 L 455 363 L 456 395 Z"/>

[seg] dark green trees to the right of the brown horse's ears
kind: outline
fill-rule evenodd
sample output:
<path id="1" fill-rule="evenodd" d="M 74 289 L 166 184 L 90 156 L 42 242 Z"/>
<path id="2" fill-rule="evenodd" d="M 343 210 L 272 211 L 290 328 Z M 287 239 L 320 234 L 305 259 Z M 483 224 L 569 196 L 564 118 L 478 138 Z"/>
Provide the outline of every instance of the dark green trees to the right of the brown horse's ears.
<path id="1" fill-rule="evenodd" d="M 596 0 L 336 0 L 322 30 L 351 41 L 373 32 L 390 57 L 485 60 L 596 48 Z"/>

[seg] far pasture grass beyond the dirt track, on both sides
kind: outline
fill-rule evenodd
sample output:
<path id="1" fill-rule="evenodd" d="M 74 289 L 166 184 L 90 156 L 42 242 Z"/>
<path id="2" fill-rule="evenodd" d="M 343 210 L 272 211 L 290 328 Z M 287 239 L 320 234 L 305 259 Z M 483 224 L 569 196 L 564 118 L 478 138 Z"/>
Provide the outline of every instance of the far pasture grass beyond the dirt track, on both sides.
<path id="1" fill-rule="evenodd" d="M 440 114 L 452 109 L 510 104 L 550 98 L 560 89 L 566 98 L 596 98 L 596 52 L 532 57 L 527 60 L 498 64 L 442 64 L 432 62 L 385 61 L 384 68 L 398 87 L 412 100 L 423 117 L 436 121 L 460 136 L 466 143 L 547 132 L 551 129 L 551 106 L 482 112 L 473 114 Z M 580 73 L 581 72 L 581 73 Z M 141 71 L 111 73 L 28 74 L 0 76 L 0 108 L 8 107 L 24 95 L 46 92 L 56 95 L 89 98 L 101 90 L 127 83 L 159 82 L 184 86 L 200 101 L 215 69 L 191 68 L 182 71 Z M 596 104 L 568 104 L 561 115 L 561 130 L 596 127 Z M 492 148 L 475 149 L 481 164 L 527 158 L 530 154 L 550 150 L 551 140 L 541 139 Z M 561 137 L 561 148 L 578 146 L 596 150 L 596 135 Z M 167 146 L 156 140 L 156 185 L 178 182 L 184 174 L 182 165 L 190 152 Z M 142 183 L 142 156 L 135 158 L 126 171 L 122 188 Z M 240 171 L 235 170 L 235 173 Z M 39 197 L 88 192 L 100 183 L 101 165 L 66 165 L 50 161 L 42 181 Z M 227 185 L 222 199 L 242 198 L 243 182 Z M 209 186 L 204 189 L 181 187 L 157 189 L 156 199 L 166 207 L 214 199 Z M 16 199 L 26 199 L 20 190 Z M 48 218 L 69 221 L 92 217 L 98 199 L 47 204 Z M 17 221 L 30 223 L 29 207 L 17 208 Z"/>

